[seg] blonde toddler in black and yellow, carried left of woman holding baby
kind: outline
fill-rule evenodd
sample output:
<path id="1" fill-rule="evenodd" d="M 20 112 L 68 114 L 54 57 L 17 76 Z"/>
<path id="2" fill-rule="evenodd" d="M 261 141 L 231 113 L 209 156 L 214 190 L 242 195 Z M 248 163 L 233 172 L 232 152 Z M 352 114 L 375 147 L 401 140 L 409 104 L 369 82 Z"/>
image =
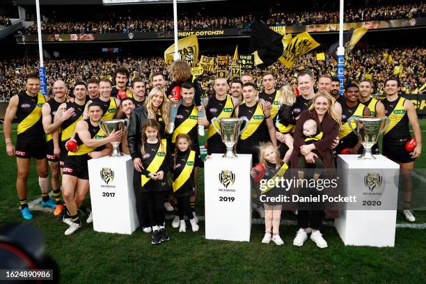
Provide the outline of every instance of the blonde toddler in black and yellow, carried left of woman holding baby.
<path id="1" fill-rule="evenodd" d="M 284 85 L 278 97 L 278 113 L 275 117 L 276 140 L 280 141 L 279 150 L 281 157 L 290 159 L 293 149 L 294 125 L 293 106 L 296 103 L 296 94 L 292 86 Z"/>

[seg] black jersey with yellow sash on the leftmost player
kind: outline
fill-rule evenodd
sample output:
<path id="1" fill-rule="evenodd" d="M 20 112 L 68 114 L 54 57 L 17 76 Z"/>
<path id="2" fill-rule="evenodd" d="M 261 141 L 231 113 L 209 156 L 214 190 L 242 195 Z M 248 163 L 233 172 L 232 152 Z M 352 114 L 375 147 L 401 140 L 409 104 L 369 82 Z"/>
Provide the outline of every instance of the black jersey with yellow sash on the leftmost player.
<path id="1" fill-rule="evenodd" d="M 35 97 L 26 92 L 18 94 L 17 104 L 17 139 L 25 141 L 45 141 L 45 129 L 42 125 L 42 107 L 45 96 L 38 93 Z"/>

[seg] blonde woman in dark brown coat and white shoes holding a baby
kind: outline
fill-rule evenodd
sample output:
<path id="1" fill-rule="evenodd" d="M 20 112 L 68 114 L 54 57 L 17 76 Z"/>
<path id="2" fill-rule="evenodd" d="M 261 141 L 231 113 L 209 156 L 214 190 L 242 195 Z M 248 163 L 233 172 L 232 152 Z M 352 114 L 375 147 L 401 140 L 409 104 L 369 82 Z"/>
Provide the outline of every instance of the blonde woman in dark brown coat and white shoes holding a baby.
<path id="1" fill-rule="evenodd" d="M 317 131 L 322 132 L 323 135 L 321 140 L 309 145 L 305 145 L 303 124 L 310 119 L 315 120 L 315 123 L 317 123 Z M 302 111 L 300 118 L 296 123 L 296 128 L 294 131 L 294 148 L 290 157 L 291 168 L 297 169 L 297 161 L 299 157 L 303 155 L 306 159 L 306 162 L 309 164 L 314 164 L 315 158 L 321 158 L 324 165 L 324 171 L 329 169 L 327 173 L 330 173 L 331 170 L 335 169 L 333 150 L 331 150 L 331 145 L 339 133 L 339 128 L 340 118 L 333 109 L 333 98 L 331 95 L 323 91 L 314 95 L 312 99 L 312 105 L 309 107 L 309 109 Z M 329 176 L 325 175 L 326 173 L 324 172 L 324 178 L 330 178 Z M 327 188 L 324 188 L 324 191 L 317 191 L 315 188 L 302 187 L 299 189 L 298 195 L 333 195 L 333 193 L 329 194 L 329 189 Z M 321 197 L 319 198 L 319 200 L 321 200 Z M 322 237 L 321 232 L 319 232 L 319 230 L 322 228 L 322 214 L 324 212 L 324 210 L 322 210 L 319 205 L 321 204 L 298 204 L 299 214 L 297 215 L 297 224 L 299 226 L 299 230 L 297 231 L 297 235 L 293 241 L 294 246 L 302 246 L 303 242 L 308 239 L 306 229 L 312 228 L 310 239 L 312 239 L 317 244 L 317 246 L 319 246 L 319 248 L 327 247 L 326 241 Z M 304 210 L 301 210 L 301 208 L 304 208 Z M 326 212 L 326 216 L 329 218 L 336 218 L 336 211 L 329 210 Z"/>

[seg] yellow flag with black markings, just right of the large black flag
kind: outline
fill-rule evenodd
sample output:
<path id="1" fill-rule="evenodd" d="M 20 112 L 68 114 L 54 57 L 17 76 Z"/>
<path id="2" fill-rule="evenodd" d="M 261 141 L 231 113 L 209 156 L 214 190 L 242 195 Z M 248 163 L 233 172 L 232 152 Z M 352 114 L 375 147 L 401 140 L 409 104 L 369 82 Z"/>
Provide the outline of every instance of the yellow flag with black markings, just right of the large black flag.
<path id="1" fill-rule="evenodd" d="M 291 40 L 290 44 L 287 45 L 283 56 L 278 59 L 285 67 L 291 68 L 297 58 L 316 47 L 319 47 L 319 43 L 316 42 L 308 32 L 299 33 Z"/>

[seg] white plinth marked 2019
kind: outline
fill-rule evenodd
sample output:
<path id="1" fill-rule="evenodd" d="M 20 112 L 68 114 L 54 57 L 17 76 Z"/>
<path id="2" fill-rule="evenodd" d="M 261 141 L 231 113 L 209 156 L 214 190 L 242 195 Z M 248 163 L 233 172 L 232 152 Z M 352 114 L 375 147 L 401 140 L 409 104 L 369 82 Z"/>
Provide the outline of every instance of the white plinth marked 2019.
<path id="1" fill-rule="evenodd" d="M 239 154 L 236 159 L 224 159 L 222 154 L 212 154 L 212 158 L 205 161 L 206 239 L 250 241 L 250 170 L 251 155 Z M 221 179 L 223 171 L 230 171 L 231 178 Z"/>

